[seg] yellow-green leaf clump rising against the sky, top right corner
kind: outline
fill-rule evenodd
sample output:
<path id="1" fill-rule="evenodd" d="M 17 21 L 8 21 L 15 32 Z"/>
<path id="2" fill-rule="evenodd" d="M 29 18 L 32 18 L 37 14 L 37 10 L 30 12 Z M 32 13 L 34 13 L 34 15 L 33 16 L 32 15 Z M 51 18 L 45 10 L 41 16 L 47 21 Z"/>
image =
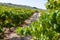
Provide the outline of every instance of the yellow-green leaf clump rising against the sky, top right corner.
<path id="1" fill-rule="evenodd" d="M 48 0 L 46 4 L 47 9 L 60 9 L 60 0 Z"/>

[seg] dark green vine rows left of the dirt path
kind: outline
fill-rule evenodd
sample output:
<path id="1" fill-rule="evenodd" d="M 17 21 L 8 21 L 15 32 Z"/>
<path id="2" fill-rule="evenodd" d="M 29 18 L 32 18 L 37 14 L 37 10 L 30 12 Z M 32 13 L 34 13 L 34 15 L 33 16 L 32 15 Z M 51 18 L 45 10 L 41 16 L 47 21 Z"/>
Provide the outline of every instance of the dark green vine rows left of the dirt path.
<path id="1" fill-rule="evenodd" d="M 13 8 L 0 6 L 0 25 L 2 27 L 16 27 L 29 18 L 34 9 Z"/>

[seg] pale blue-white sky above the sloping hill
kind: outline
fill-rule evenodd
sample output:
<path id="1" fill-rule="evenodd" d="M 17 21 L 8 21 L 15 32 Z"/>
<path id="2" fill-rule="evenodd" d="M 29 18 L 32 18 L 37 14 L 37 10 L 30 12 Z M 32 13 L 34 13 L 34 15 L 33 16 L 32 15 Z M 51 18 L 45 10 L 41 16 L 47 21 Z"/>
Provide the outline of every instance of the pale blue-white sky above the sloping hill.
<path id="1" fill-rule="evenodd" d="M 0 0 L 0 2 L 12 3 L 12 4 L 18 4 L 18 5 L 27 5 L 31 7 L 46 9 L 45 4 L 47 0 Z"/>

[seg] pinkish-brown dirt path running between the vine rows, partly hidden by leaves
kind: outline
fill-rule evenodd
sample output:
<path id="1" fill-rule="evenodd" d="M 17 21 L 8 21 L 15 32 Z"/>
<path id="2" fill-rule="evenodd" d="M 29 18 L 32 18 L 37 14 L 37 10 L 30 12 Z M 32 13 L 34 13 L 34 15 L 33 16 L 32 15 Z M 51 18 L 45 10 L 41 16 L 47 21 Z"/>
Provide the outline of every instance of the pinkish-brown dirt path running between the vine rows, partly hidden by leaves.
<path id="1" fill-rule="evenodd" d="M 34 13 L 29 19 L 25 20 L 22 27 L 29 26 L 32 22 L 36 21 L 40 16 L 40 13 Z M 10 30 L 7 28 L 5 29 L 5 38 L 4 40 L 31 40 L 31 37 L 20 38 L 19 35 L 15 33 L 15 29 L 12 27 Z M 11 32 L 10 32 L 11 31 Z"/>

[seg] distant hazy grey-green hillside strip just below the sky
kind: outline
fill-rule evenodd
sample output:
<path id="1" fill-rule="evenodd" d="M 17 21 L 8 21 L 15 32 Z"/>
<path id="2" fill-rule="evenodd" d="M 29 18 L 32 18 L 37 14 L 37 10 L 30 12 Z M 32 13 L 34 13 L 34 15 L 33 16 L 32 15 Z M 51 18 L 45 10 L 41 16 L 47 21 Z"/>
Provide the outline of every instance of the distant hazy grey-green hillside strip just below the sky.
<path id="1" fill-rule="evenodd" d="M 37 9 L 37 10 L 40 10 L 37 7 L 30 7 L 30 6 L 26 6 L 26 5 L 17 5 L 17 4 L 12 4 L 12 3 L 0 3 L 0 6 L 10 6 L 10 7 L 29 8 L 29 9 Z"/>

